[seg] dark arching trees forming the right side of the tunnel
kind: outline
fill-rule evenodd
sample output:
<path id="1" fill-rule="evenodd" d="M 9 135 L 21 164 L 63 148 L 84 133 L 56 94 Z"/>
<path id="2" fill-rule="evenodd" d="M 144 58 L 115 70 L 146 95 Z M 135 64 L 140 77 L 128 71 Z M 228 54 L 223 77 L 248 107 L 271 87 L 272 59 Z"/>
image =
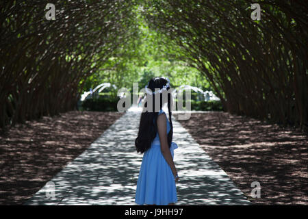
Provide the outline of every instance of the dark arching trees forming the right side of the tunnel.
<path id="1" fill-rule="evenodd" d="M 150 27 L 181 47 L 231 113 L 307 127 L 307 5 L 260 1 L 145 1 Z"/>

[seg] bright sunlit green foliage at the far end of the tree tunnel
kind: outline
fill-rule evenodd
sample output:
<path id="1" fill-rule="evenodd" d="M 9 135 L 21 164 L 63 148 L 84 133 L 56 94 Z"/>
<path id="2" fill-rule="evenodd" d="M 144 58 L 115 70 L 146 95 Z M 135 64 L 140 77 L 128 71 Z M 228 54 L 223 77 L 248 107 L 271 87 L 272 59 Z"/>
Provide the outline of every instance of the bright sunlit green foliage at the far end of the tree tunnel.
<path id="1" fill-rule="evenodd" d="M 101 70 L 81 81 L 84 83 L 83 91 L 104 82 L 115 84 L 118 88 L 127 88 L 130 92 L 133 83 L 138 82 L 138 90 L 141 90 L 155 76 L 169 77 L 173 88 L 189 84 L 203 90 L 209 89 L 207 79 L 188 62 L 181 60 L 179 46 L 163 34 L 150 29 L 141 11 L 140 6 L 134 8 L 138 38 L 123 44 L 101 66 Z"/>

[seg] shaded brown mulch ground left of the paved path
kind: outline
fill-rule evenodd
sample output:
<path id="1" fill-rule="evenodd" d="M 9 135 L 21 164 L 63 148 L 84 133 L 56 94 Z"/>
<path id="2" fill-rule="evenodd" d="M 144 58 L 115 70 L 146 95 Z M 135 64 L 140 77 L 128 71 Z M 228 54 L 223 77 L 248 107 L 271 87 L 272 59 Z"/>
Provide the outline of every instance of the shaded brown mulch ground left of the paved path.
<path id="1" fill-rule="evenodd" d="M 0 205 L 21 205 L 123 113 L 67 112 L 0 135 Z"/>

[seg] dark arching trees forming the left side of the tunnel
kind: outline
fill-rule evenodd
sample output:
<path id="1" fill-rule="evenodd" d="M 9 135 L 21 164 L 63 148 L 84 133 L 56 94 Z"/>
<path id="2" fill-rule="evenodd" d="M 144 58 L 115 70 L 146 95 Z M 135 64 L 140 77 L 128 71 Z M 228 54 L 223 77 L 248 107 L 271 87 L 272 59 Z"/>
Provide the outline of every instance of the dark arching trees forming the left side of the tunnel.
<path id="1" fill-rule="evenodd" d="M 0 1 L 0 127 L 75 110 L 84 83 L 139 38 L 136 1 Z M 47 16 L 48 17 L 48 16 Z"/>

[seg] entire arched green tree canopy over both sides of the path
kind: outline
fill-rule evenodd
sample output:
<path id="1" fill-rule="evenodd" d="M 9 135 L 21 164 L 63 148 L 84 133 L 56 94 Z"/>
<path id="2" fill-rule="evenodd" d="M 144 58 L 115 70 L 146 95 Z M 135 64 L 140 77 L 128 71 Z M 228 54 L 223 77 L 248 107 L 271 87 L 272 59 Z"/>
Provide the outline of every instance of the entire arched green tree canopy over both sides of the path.
<path id="1" fill-rule="evenodd" d="M 42 1 L 0 3 L 0 127 L 73 110 L 91 81 L 164 70 L 212 88 L 228 112 L 307 128 L 303 1 L 259 1 L 261 21 L 245 0 L 53 3 L 54 21 Z"/>

